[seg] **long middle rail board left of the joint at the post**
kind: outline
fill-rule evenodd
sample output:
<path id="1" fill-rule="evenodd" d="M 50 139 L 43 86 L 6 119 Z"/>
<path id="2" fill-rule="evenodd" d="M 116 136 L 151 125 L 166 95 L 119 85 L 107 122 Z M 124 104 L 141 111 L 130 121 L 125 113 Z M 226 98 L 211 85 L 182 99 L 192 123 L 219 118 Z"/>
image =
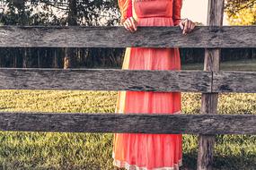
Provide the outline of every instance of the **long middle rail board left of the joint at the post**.
<path id="1" fill-rule="evenodd" d="M 211 72 L 121 69 L 0 69 L 0 89 L 209 92 Z"/>

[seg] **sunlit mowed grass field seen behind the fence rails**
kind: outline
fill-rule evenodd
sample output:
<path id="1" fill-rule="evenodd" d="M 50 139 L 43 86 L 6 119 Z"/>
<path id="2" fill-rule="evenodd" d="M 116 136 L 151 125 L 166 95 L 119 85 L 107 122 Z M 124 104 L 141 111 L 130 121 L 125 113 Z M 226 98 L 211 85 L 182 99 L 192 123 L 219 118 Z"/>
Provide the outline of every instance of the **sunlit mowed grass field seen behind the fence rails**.
<path id="1" fill-rule="evenodd" d="M 197 70 L 202 64 L 184 65 Z M 221 64 L 223 70 L 256 72 L 256 61 Z M 182 93 L 184 114 L 199 114 L 199 93 Z M 22 112 L 114 113 L 116 91 L 0 90 L 0 109 Z M 219 95 L 219 114 L 256 115 L 256 94 Z M 0 169 L 113 169 L 113 134 L 1 132 Z M 183 164 L 196 168 L 197 135 L 183 135 Z M 216 169 L 256 169 L 255 135 L 217 135 Z"/>

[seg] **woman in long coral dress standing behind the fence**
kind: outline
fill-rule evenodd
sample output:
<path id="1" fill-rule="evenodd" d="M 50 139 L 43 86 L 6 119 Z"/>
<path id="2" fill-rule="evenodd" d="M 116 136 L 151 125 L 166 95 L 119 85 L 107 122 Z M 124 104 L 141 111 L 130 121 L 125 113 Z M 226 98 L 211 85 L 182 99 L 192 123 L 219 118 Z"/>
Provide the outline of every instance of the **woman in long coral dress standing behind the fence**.
<path id="1" fill-rule="evenodd" d="M 119 0 L 121 23 L 137 26 L 177 26 L 187 34 L 195 23 L 181 20 L 182 0 Z M 181 70 L 179 48 L 128 47 L 122 69 Z M 116 113 L 181 114 L 180 92 L 119 91 Z M 179 169 L 181 134 L 115 133 L 113 165 L 126 169 Z"/>

